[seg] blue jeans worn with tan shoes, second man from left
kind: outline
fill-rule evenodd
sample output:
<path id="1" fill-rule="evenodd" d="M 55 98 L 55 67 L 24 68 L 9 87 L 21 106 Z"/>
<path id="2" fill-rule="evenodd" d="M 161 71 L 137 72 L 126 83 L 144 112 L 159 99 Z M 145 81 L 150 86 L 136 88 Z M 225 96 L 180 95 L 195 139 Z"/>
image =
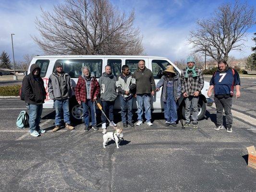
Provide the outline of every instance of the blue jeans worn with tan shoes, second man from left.
<path id="1" fill-rule="evenodd" d="M 64 116 L 64 122 L 70 124 L 70 113 L 69 113 L 69 99 L 56 99 L 54 101 L 55 107 L 55 125 L 61 125 L 62 114 Z"/>

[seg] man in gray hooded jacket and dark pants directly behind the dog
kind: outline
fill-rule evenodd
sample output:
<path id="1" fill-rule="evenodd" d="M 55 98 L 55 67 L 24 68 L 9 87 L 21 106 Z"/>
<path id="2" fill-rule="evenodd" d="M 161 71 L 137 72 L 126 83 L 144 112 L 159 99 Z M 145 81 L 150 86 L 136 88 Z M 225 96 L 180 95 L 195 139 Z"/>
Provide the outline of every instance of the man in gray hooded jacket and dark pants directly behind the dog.
<path id="1" fill-rule="evenodd" d="M 109 119 L 111 121 L 110 123 L 113 126 L 116 126 L 116 124 L 113 122 L 113 108 L 115 104 L 115 99 L 118 94 L 116 91 L 116 77 L 111 72 L 111 67 L 109 65 L 105 67 L 105 72 L 103 72 L 102 76 L 98 79 L 98 83 L 100 85 L 100 99 L 103 111 L 106 113 L 106 115 L 109 116 Z M 106 123 L 108 121 L 104 114 L 101 114 L 101 120 L 103 129 L 102 133 L 105 134 L 107 132 Z"/>

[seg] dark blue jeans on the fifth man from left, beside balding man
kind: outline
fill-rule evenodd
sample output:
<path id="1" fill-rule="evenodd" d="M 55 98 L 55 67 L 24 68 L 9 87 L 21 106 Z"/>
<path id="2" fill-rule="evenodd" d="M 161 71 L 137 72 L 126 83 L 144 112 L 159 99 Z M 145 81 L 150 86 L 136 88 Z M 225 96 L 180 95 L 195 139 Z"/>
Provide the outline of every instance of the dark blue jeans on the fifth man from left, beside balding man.
<path id="1" fill-rule="evenodd" d="M 128 100 L 124 100 L 123 97 L 120 96 L 121 117 L 122 117 L 123 123 L 126 123 L 126 114 L 127 114 L 128 122 L 133 121 L 133 102 L 134 102 L 133 96 L 131 96 L 131 98 Z"/>

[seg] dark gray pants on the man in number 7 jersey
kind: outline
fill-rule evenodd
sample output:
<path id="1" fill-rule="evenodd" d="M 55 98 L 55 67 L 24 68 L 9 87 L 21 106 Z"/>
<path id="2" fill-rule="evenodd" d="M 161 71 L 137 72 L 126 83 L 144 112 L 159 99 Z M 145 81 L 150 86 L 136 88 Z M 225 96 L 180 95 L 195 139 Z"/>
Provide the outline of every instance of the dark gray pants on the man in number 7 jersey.
<path id="1" fill-rule="evenodd" d="M 214 102 L 216 105 L 217 109 L 217 125 L 222 125 L 223 124 L 223 108 L 225 111 L 226 115 L 226 124 L 232 124 L 233 122 L 233 117 L 232 117 L 232 112 L 231 112 L 231 106 L 232 106 L 232 97 L 228 98 L 218 98 L 214 96 Z"/>

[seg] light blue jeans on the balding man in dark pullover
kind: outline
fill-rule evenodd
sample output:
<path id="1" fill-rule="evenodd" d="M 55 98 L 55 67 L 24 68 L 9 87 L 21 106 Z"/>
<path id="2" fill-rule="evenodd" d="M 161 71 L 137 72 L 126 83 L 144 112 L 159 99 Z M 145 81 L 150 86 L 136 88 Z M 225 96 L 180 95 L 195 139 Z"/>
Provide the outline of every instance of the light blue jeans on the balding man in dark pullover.
<path id="1" fill-rule="evenodd" d="M 138 103 L 138 120 L 142 119 L 143 114 L 143 106 L 145 108 L 145 118 L 146 122 L 151 120 L 151 106 L 150 106 L 150 94 L 137 94 L 137 103 Z"/>

